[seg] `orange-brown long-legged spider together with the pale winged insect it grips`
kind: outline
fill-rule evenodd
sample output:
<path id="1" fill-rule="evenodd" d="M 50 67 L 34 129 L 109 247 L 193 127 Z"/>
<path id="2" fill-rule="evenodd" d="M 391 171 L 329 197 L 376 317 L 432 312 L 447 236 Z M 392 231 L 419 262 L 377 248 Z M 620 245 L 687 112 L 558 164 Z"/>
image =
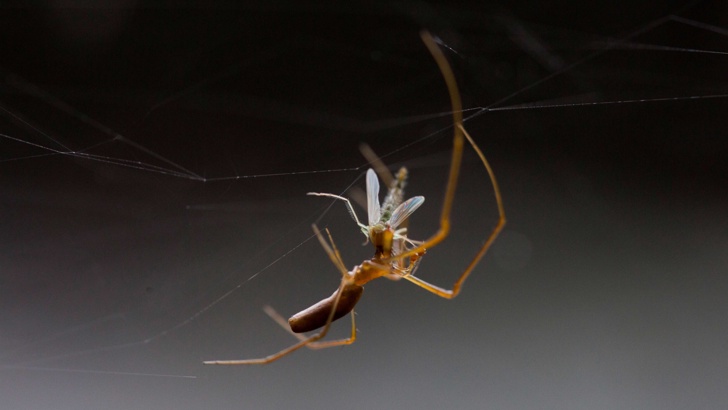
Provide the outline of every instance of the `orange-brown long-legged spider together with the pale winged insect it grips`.
<path id="1" fill-rule="evenodd" d="M 440 214 L 440 227 L 438 231 L 425 241 L 412 240 L 407 237 L 406 221 L 409 216 L 424 203 L 425 198 L 422 196 L 416 196 L 403 201 L 404 185 L 407 179 L 407 170 L 405 168 L 400 169 L 396 177 L 386 176 L 386 172 L 380 172 L 380 174 L 385 175 L 386 179 L 391 179 L 388 193 L 384 202 L 381 204 L 379 202 L 379 180 L 377 175 L 372 169 L 367 171 L 367 225 L 364 225 L 359 221 L 351 202 L 349 202 L 347 198 L 328 193 L 309 193 L 309 195 L 331 197 L 343 201 L 362 233 L 367 237 L 368 241 L 374 245 L 374 257 L 365 260 L 351 270 L 347 270 L 339 250 L 334 244 L 334 239 L 331 236 L 331 233 L 326 230 L 326 236 L 324 236 L 318 227 L 313 225 L 313 230 L 321 243 L 321 246 L 324 248 L 326 254 L 328 254 L 329 259 L 331 259 L 334 266 L 336 266 L 339 272 L 341 272 L 341 283 L 339 284 L 338 289 L 336 289 L 336 291 L 328 298 L 323 299 L 313 306 L 293 315 L 290 319 L 288 319 L 288 321 L 273 310 L 273 308 L 269 306 L 265 307 L 265 312 L 279 325 L 293 334 L 299 340 L 298 343 L 263 358 L 211 360 L 204 362 L 205 364 L 266 364 L 276 361 L 304 346 L 313 349 L 320 349 L 351 344 L 356 340 L 354 306 L 361 298 L 364 291 L 364 284 L 380 277 L 386 277 L 392 280 L 405 279 L 437 296 L 452 299 L 460 293 L 463 283 L 473 271 L 473 268 L 475 268 L 483 255 L 485 255 L 488 248 L 490 248 L 498 234 L 505 226 L 505 210 L 503 208 L 503 201 L 501 199 L 500 189 L 498 188 L 495 174 L 486 160 L 485 155 L 483 155 L 478 145 L 463 126 L 462 103 L 460 101 L 457 83 L 455 82 L 455 77 L 450 65 L 440 48 L 437 46 L 435 39 L 426 31 L 421 32 L 420 35 L 425 46 L 427 46 L 433 58 L 437 62 L 445 79 L 450 93 L 453 113 L 454 135 L 452 158 L 450 160 L 450 173 L 445 188 L 445 199 L 443 201 L 442 211 Z M 420 265 L 422 257 L 425 255 L 427 249 L 442 242 L 450 232 L 450 214 L 455 198 L 458 174 L 460 172 L 464 139 L 468 140 L 488 172 L 490 182 L 493 185 L 493 191 L 495 193 L 499 218 L 495 228 L 491 231 L 490 235 L 487 237 L 480 250 L 478 250 L 473 260 L 465 268 L 465 271 L 463 271 L 463 273 L 460 274 L 460 277 L 455 281 L 452 289 L 444 289 L 414 276 L 414 273 Z M 384 167 L 380 166 L 379 168 L 381 169 Z M 323 339 L 328 333 L 331 323 L 349 313 L 351 314 L 351 336 L 346 339 L 321 341 L 321 339 Z M 316 329 L 321 330 L 312 336 L 305 336 L 302 334 Z"/>

